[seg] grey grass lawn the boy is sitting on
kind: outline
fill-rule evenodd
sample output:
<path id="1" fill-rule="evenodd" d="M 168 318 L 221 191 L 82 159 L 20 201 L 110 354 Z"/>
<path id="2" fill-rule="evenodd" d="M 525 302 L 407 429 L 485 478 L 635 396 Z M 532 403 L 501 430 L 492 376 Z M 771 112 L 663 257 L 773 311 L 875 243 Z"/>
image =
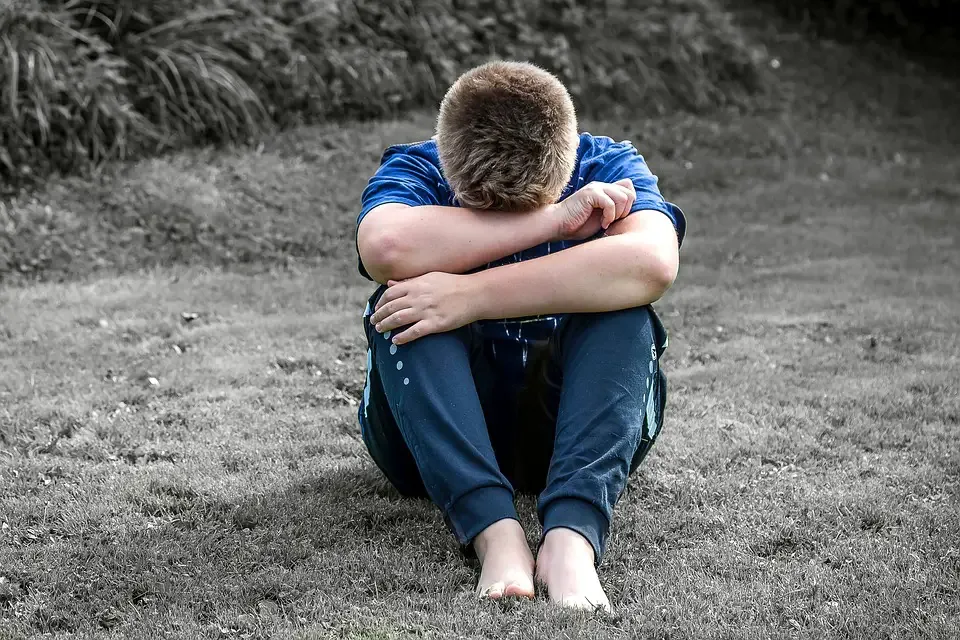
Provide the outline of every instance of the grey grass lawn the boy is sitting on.
<path id="1" fill-rule="evenodd" d="M 814 53 L 805 74 L 853 64 Z M 270 224 L 330 248 L 0 289 L 0 637 L 956 637 L 960 156 L 913 71 L 860 73 L 859 102 L 585 124 L 634 139 L 689 219 L 612 619 L 478 602 L 439 512 L 365 454 L 351 203 L 429 114 L 132 167 L 111 184 L 212 225 L 292 193 Z"/>

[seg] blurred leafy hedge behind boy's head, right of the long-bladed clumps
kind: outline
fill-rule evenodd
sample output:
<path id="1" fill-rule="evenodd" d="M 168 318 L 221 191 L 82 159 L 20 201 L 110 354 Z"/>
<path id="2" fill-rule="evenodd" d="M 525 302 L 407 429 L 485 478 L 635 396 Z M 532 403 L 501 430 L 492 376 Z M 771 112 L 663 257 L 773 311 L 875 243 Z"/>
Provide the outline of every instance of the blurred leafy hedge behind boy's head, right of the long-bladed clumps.
<path id="1" fill-rule="evenodd" d="M 352 0 L 337 6 L 336 12 L 284 18 L 311 34 L 301 46 L 325 84 L 337 87 L 317 96 L 322 111 L 376 115 L 434 104 L 459 73 L 491 57 L 554 71 L 591 115 L 743 104 L 761 87 L 756 53 L 712 0 L 639 6 L 629 0 Z"/>

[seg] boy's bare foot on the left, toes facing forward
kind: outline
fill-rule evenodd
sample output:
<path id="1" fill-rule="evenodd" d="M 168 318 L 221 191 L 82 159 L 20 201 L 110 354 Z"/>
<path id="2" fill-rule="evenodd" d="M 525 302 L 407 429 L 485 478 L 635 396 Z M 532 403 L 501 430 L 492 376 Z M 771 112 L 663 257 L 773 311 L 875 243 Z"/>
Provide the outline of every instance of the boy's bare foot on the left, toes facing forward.
<path id="1" fill-rule="evenodd" d="M 533 597 L 533 554 L 519 522 L 511 518 L 494 522 L 474 539 L 473 548 L 483 566 L 478 596 Z"/>

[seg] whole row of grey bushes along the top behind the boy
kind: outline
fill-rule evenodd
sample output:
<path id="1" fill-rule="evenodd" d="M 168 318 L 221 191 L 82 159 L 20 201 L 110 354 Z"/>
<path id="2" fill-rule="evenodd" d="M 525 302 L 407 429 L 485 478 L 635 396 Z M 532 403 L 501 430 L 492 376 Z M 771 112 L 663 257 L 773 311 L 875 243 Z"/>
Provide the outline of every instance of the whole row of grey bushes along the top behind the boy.
<path id="1" fill-rule="evenodd" d="M 744 104 L 758 61 L 716 2 L 16 0 L 0 178 L 433 106 L 493 57 L 553 70 L 590 115 Z"/>

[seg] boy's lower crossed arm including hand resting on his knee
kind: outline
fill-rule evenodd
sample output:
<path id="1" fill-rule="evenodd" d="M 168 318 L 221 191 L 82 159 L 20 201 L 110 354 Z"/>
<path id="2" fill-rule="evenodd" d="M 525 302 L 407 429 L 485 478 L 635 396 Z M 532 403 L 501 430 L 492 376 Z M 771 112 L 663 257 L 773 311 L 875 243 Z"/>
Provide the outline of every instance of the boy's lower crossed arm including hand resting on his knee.
<path id="1" fill-rule="evenodd" d="M 637 211 L 605 236 L 564 251 L 469 275 L 428 273 L 391 287 L 372 322 L 385 332 L 410 325 L 397 344 L 488 318 L 614 311 L 650 304 L 677 276 L 673 223 Z"/>

